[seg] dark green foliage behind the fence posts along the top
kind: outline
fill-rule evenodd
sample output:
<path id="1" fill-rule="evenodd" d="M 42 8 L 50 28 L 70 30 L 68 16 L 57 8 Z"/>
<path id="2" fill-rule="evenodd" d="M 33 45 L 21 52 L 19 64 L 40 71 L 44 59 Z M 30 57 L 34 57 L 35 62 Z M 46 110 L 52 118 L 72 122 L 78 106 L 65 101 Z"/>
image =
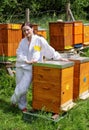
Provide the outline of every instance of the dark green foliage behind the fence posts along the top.
<path id="1" fill-rule="evenodd" d="M 75 19 L 89 19 L 89 0 L 3 0 L 0 2 L 0 23 L 22 22 L 26 8 L 30 17 L 65 14 L 66 3 L 70 1 Z"/>

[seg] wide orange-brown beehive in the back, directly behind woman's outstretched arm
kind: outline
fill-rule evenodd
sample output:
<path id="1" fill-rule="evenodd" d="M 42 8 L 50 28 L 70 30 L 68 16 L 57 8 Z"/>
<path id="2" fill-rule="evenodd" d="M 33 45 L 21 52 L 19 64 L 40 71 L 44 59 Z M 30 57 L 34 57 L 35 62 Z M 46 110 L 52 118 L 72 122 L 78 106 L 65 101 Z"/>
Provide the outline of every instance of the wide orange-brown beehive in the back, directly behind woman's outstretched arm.
<path id="1" fill-rule="evenodd" d="M 57 51 L 73 46 L 73 23 L 50 22 L 49 23 L 50 45 Z"/>

